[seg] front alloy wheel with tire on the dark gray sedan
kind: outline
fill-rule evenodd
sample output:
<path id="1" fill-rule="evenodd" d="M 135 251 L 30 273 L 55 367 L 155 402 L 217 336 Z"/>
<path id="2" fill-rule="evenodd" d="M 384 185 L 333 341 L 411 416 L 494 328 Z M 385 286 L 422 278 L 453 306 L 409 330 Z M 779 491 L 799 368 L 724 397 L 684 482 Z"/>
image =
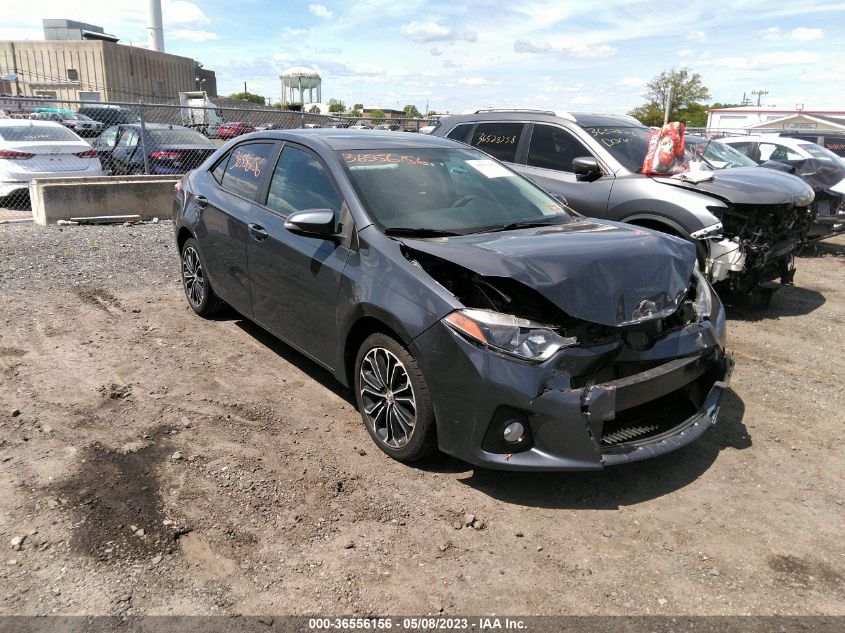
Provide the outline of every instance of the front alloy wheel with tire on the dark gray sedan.
<path id="1" fill-rule="evenodd" d="M 355 395 L 378 447 L 399 461 L 429 455 L 436 445 L 434 411 L 416 359 L 385 334 L 372 334 L 355 362 Z"/>

